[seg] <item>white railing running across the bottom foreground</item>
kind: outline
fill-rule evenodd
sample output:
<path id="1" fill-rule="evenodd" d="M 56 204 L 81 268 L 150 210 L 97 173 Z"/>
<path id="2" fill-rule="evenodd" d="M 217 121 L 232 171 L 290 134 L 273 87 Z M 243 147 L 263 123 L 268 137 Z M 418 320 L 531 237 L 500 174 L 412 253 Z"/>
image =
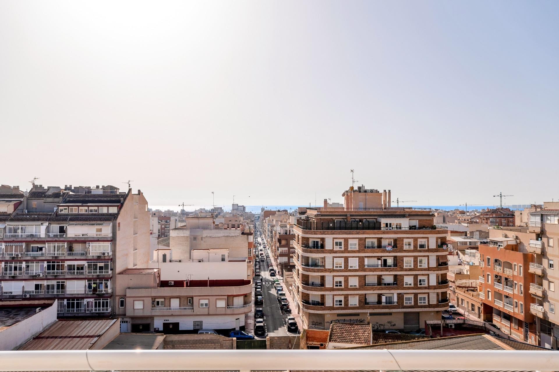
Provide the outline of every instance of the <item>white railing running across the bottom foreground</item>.
<path id="1" fill-rule="evenodd" d="M 0 351 L 0 371 L 462 370 L 557 371 L 556 350 L 32 350 Z"/>

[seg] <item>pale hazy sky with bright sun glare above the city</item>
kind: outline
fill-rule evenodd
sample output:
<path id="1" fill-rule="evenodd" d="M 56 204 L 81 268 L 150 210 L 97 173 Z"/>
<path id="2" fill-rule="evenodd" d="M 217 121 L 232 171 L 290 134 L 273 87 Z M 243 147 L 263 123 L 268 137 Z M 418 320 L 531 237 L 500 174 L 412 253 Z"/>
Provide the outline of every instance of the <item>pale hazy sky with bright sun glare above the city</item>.
<path id="1" fill-rule="evenodd" d="M 557 1 L 0 2 L 0 183 L 559 198 Z M 555 140 L 553 139 L 555 138 Z"/>

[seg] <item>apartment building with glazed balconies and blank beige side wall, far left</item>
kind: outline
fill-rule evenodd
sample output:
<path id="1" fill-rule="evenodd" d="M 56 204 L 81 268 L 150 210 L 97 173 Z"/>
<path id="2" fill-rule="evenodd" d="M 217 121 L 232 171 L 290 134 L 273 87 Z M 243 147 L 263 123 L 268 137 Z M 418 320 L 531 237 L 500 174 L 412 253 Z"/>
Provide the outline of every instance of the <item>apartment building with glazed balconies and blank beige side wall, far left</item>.
<path id="1" fill-rule="evenodd" d="M 59 316 L 111 316 L 116 273 L 146 265 L 147 201 L 138 190 L 72 194 L 60 187 L 0 195 L 0 300 L 57 299 Z"/>

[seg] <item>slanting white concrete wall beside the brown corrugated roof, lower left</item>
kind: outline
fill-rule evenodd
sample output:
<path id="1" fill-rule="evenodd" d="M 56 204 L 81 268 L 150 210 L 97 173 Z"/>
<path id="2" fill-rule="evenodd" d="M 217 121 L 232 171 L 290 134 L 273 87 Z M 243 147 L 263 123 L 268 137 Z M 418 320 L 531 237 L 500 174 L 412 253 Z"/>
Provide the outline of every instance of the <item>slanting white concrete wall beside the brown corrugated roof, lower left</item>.
<path id="1" fill-rule="evenodd" d="M 15 349 L 56 321 L 56 301 L 49 307 L 37 307 L 42 311 L 0 331 L 0 350 Z"/>

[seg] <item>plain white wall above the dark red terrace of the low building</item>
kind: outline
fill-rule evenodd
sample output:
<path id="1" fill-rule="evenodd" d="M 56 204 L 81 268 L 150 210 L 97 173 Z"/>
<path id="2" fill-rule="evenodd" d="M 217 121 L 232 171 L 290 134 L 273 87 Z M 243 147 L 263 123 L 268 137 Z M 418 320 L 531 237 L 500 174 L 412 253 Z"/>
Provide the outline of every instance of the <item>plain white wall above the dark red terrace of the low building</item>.
<path id="1" fill-rule="evenodd" d="M 247 262 L 150 262 L 149 268 L 161 269 L 162 281 L 247 279 Z"/>

